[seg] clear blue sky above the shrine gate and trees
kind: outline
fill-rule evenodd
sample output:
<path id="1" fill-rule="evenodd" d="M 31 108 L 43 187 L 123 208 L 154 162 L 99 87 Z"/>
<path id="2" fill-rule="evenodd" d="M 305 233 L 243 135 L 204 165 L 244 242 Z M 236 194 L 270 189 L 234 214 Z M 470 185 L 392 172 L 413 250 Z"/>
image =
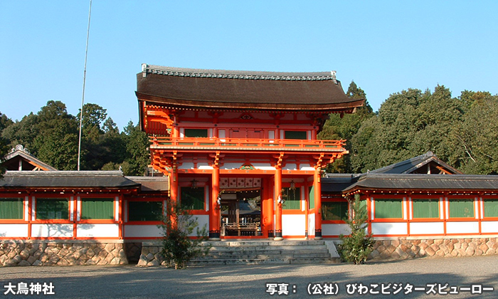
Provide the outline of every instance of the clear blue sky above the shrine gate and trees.
<path id="1" fill-rule="evenodd" d="M 90 1 L 0 0 L 0 112 L 60 100 L 78 113 Z M 391 93 L 445 85 L 498 93 L 498 1 L 92 1 L 85 103 L 138 122 L 142 63 L 337 70 L 374 110 Z"/>

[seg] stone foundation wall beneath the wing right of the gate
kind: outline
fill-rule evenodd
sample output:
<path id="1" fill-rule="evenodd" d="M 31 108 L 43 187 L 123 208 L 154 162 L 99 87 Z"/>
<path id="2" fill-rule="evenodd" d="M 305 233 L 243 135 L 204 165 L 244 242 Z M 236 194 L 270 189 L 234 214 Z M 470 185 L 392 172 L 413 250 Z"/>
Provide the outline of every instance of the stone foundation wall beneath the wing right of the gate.
<path id="1" fill-rule="evenodd" d="M 427 256 L 483 256 L 498 254 L 498 238 L 434 238 L 376 240 L 369 259 L 406 259 Z"/>

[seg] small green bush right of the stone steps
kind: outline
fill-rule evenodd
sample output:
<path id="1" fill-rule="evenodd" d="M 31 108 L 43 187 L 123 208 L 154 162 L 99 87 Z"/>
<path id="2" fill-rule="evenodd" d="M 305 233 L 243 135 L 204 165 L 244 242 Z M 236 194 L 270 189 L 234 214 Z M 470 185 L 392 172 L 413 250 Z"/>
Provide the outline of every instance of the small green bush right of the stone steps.
<path id="1" fill-rule="evenodd" d="M 371 234 L 366 234 L 366 221 L 369 219 L 366 214 L 366 206 L 361 206 L 359 196 L 356 196 L 356 199 L 349 201 L 349 203 L 351 204 L 352 216 L 348 216 L 346 224 L 349 225 L 351 234 L 339 236 L 342 241 L 339 245 L 339 254 L 345 261 L 358 265 L 365 263 L 372 251 L 374 241 Z"/>

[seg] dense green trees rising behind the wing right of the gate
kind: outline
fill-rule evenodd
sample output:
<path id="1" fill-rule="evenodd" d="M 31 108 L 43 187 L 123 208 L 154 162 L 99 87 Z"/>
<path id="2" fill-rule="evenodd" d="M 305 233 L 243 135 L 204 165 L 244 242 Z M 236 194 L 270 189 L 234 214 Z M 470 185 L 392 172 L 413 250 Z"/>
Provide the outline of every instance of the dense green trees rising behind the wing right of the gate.
<path id="1" fill-rule="evenodd" d="M 346 93 L 366 98 L 354 82 Z M 498 95 L 465 90 L 402 90 L 373 113 L 366 103 L 355 114 L 331 115 L 319 138 L 346 139 L 349 155 L 329 172 L 359 173 L 432 151 L 466 174 L 498 173 Z"/>

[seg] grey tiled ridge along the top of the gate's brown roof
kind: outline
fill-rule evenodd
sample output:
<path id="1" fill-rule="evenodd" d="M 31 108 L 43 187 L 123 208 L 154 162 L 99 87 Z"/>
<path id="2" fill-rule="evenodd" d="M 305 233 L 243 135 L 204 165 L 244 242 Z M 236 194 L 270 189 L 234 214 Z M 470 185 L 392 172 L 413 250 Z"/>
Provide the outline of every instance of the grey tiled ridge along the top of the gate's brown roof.
<path id="1" fill-rule="evenodd" d="M 227 78 L 227 79 L 245 79 L 245 80 L 334 80 L 337 82 L 336 71 L 329 72 L 269 72 L 254 70 L 209 70 L 201 68 L 174 68 L 161 65 L 142 64 L 142 73 L 144 77 L 147 74 L 174 75 L 179 77 L 194 78 Z"/>

